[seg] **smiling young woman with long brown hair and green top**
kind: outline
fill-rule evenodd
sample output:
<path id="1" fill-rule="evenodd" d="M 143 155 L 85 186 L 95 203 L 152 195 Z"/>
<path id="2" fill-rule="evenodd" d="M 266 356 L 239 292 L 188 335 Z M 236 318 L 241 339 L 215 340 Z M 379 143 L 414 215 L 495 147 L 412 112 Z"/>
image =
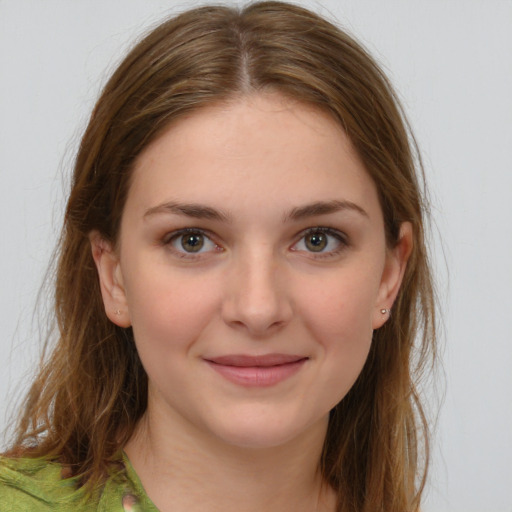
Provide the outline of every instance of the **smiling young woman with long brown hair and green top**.
<path id="1" fill-rule="evenodd" d="M 415 163 L 379 68 L 313 13 L 157 27 L 82 139 L 59 339 L 2 503 L 418 510 L 435 338 Z"/>

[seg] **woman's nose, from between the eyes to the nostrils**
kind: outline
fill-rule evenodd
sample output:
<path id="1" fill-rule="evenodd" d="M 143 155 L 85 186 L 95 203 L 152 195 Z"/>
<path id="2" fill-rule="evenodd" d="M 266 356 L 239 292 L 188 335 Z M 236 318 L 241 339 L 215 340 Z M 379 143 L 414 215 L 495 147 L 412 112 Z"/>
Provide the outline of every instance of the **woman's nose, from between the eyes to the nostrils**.
<path id="1" fill-rule="evenodd" d="M 231 327 L 264 337 L 285 326 L 293 309 L 286 277 L 271 251 L 255 251 L 233 262 L 222 305 Z"/>

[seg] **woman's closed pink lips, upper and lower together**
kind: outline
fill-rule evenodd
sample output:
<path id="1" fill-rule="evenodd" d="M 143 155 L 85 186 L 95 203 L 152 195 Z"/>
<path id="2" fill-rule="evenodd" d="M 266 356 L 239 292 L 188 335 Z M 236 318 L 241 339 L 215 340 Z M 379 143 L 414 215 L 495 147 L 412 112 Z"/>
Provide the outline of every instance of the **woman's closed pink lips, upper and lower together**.
<path id="1" fill-rule="evenodd" d="M 233 354 L 204 360 L 230 382 L 246 387 L 269 387 L 297 373 L 308 358 L 290 354 Z"/>

